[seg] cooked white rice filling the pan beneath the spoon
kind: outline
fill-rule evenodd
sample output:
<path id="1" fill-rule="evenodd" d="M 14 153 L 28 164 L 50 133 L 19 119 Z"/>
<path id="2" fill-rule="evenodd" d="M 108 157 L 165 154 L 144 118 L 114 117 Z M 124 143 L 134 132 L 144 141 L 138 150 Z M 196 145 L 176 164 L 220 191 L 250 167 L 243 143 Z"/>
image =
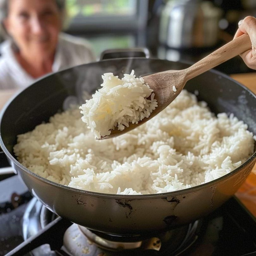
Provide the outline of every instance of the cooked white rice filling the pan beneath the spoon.
<path id="1" fill-rule="evenodd" d="M 219 178 L 253 153 L 253 134 L 232 114 L 217 117 L 183 90 L 154 118 L 122 136 L 95 140 L 78 109 L 18 136 L 18 160 L 70 187 L 112 194 L 176 191 Z"/>

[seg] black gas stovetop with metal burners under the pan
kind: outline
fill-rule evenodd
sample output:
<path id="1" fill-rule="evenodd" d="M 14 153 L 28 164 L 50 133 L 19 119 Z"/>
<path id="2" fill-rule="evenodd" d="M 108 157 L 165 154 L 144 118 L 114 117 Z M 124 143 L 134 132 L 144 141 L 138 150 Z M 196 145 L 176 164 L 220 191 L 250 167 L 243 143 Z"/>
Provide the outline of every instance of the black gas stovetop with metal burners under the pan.
<path id="1" fill-rule="evenodd" d="M 0 153 L 0 167 L 7 164 Z M 10 254 L 14 248 L 17 253 Z M 232 197 L 222 207 L 193 223 L 146 240 L 123 243 L 113 235 L 100 234 L 56 216 L 32 197 L 19 175 L 0 175 L 0 256 L 7 253 L 252 256 L 256 255 L 256 219 Z"/>

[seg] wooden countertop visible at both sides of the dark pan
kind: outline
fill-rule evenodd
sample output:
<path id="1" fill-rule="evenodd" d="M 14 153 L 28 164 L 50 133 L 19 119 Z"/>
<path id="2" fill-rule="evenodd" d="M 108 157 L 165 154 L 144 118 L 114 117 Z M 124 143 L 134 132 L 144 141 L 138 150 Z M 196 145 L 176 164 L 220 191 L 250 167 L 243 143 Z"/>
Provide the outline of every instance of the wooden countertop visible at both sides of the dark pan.
<path id="1" fill-rule="evenodd" d="M 256 94 L 256 72 L 247 74 L 234 74 L 231 77 L 241 82 Z M 15 90 L 0 91 L 0 109 L 15 93 Z M 246 205 L 247 209 L 256 216 L 256 165 L 247 180 L 240 187 L 236 196 Z"/>

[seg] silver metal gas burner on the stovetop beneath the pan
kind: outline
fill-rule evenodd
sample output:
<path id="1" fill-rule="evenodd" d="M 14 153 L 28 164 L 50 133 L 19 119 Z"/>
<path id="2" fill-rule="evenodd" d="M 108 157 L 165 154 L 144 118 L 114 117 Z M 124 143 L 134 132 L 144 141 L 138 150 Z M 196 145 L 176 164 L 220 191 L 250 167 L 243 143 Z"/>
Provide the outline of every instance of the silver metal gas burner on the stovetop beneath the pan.
<path id="1" fill-rule="evenodd" d="M 37 234 L 58 216 L 33 198 L 24 214 L 23 237 Z M 202 221 L 195 221 L 186 226 L 162 234 L 147 237 L 144 235 L 114 235 L 93 231 L 77 224 L 66 229 L 63 246 L 52 251 L 49 245 L 42 245 L 32 251 L 33 255 L 180 255 L 198 239 Z M 63 235 L 63 234 L 59 234 Z"/>

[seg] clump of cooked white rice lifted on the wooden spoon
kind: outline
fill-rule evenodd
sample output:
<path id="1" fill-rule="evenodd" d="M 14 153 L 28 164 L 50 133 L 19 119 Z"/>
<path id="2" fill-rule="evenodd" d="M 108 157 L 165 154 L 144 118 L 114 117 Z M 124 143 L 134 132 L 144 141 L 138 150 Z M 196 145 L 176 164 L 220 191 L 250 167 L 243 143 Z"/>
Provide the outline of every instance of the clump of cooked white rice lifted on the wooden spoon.
<path id="1" fill-rule="evenodd" d="M 143 78 L 136 78 L 134 70 L 122 79 L 113 73 L 105 73 L 102 79 L 102 88 L 80 107 L 83 122 L 97 138 L 109 135 L 115 127 L 122 131 L 129 123 L 137 124 L 157 107 L 153 90 Z"/>

